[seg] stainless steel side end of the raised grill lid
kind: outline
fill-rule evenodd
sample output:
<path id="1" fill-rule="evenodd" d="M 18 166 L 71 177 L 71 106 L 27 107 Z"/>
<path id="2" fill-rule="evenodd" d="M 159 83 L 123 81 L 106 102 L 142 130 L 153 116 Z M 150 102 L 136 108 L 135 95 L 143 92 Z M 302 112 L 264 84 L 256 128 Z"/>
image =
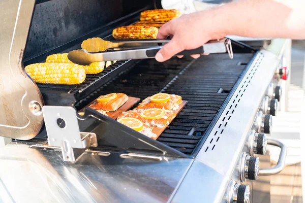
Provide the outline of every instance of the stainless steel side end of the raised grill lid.
<path id="1" fill-rule="evenodd" d="M 41 94 L 22 57 L 35 0 L 0 1 L 0 136 L 29 140 L 41 129 Z"/>

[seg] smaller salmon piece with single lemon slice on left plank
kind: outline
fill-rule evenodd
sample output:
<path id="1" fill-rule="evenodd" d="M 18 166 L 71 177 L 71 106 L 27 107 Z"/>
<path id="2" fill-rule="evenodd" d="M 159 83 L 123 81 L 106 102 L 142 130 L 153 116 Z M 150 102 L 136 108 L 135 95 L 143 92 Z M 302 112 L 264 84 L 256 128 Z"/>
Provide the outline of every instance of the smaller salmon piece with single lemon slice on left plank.
<path id="1" fill-rule="evenodd" d="M 116 95 L 117 96 L 114 99 L 101 103 L 96 102 L 90 105 L 89 107 L 94 110 L 104 110 L 110 112 L 116 111 L 118 108 L 124 105 L 128 100 L 128 96 L 124 93 L 117 93 Z"/>

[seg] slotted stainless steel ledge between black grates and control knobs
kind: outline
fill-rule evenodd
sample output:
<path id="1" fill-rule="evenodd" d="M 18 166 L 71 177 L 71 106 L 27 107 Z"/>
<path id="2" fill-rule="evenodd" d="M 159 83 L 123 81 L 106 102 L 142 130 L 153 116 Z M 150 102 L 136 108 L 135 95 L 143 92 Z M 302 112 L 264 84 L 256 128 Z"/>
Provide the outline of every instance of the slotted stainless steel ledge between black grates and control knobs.
<path id="1" fill-rule="evenodd" d="M 256 55 L 196 159 L 224 176 L 232 175 L 278 63 L 268 51 Z"/>

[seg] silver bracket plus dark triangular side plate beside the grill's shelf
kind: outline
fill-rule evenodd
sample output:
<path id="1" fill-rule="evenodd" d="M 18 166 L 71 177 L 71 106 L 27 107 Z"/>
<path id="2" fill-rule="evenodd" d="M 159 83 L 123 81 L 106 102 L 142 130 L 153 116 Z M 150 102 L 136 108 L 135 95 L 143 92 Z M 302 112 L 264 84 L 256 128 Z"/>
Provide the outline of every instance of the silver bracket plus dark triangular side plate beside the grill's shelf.
<path id="1" fill-rule="evenodd" d="M 43 115 L 49 145 L 35 147 L 61 149 L 64 161 L 77 161 L 88 150 L 188 157 L 90 108 L 79 116 L 73 107 L 45 106 Z"/>

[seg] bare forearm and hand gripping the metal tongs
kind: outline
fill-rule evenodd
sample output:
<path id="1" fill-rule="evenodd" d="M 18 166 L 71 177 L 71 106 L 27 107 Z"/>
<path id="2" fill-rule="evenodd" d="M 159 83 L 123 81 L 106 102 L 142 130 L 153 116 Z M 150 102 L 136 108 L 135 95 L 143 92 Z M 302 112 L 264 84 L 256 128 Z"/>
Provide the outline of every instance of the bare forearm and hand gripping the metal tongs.
<path id="1" fill-rule="evenodd" d="M 174 18 L 159 29 L 171 41 L 157 53 L 160 62 L 185 49 L 196 49 L 227 35 L 305 39 L 305 1 L 242 0 Z M 198 57 L 199 55 L 193 55 Z"/>

